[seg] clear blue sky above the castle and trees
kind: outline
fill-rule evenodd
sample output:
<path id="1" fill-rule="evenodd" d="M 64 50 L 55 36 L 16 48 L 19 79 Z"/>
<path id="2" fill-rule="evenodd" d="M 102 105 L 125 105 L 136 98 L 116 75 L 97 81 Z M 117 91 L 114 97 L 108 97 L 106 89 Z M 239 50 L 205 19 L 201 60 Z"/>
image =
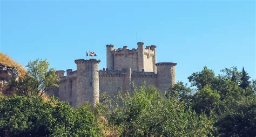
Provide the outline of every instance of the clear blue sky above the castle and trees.
<path id="1" fill-rule="evenodd" d="M 0 0 L 0 52 L 24 66 L 47 59 L 76 70 L 85 51 L 106 67 L 106 45 L 157 46 L 157 62 L 176 62 L 176 80 L 204 66 L 255 72 L 254 1 L 5 1 Z"/>

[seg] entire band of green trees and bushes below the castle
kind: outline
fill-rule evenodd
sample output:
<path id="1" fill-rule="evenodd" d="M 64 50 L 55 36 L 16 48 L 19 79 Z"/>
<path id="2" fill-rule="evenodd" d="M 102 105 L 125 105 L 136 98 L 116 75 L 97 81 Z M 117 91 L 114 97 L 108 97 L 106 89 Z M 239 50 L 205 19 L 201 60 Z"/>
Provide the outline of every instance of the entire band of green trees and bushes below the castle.
<path id="1" fill-rule="evenodd" d="M 191 86 L 177 82 L 165 96 L 154 86 L 134 86 L 74 109 L 42 98 L 58 81 L 48 62 L 26 67 L 12 81 L 17 95 L 0 96 L 0 136 L 256 136 L 256 81 L 244 68 L 216 76 L 204 67 L 188 77 Z"/>

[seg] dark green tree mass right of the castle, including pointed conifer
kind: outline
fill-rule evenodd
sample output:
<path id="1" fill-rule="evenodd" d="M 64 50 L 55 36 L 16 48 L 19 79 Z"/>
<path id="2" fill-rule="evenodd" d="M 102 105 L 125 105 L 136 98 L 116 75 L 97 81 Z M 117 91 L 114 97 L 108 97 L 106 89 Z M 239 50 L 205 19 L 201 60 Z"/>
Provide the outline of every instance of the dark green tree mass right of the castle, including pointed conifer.
<path id="1" fill-rule="evenodd" d="M 249 80 L 244 68 L 241 72 L 236 67 L 225 68 L 221 72 L 223 74 L 215 76 L 213 70 L 204 67 L 188 77 L 191 88 L 178 82 L 170 88 L 169 96 L 176 93 L 179 100 L 186 98 L 186 103 L 192 105 L 193 110 L 212 119 L 217 128 L 214 135 L 255 136 L 255 81 Z M 193 94 L 184 94 L 184 91 L 191 90 Z"/>

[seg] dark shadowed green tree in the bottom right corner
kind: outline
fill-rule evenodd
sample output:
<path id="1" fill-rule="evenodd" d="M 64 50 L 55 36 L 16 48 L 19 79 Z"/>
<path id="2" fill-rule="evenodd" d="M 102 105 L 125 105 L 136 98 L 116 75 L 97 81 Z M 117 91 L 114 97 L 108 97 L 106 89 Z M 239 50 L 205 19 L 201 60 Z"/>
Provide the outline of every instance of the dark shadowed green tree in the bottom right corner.
<path id="1" fill-rule="evenodd" d="M 225 111 L 218 116 L 215 126 L 221 136 L 256 135 L 256 96 L 225 100 Z"/>

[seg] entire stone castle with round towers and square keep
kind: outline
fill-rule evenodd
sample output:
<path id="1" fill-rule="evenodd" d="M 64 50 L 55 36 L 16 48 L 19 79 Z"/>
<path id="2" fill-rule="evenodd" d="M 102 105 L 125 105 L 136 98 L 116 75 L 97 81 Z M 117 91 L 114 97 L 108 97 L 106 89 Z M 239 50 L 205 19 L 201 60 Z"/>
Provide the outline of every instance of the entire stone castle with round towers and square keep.
<path id="1" fill-rule="evenodd" d="M 100 60 L 75 60 L 77 70 L 56 71 L 60 78 L 59 87 L 48 93 L 76 107 L 86 101 L 91 105 L 99 102 L 99 93 L 106 92 L 114 97 L 118 92 L 132 91 L 133 85 L 156 86 L 161 93 L 175 83 L 175 66 L 177 63 L 156 62 L 156 46 L 137 43 L 137 49 L 127 46 L 114 49 L 106 45 L 106 69 L 98 70 Z M 133 83 L 133 84 L 132 84 Z"/>

